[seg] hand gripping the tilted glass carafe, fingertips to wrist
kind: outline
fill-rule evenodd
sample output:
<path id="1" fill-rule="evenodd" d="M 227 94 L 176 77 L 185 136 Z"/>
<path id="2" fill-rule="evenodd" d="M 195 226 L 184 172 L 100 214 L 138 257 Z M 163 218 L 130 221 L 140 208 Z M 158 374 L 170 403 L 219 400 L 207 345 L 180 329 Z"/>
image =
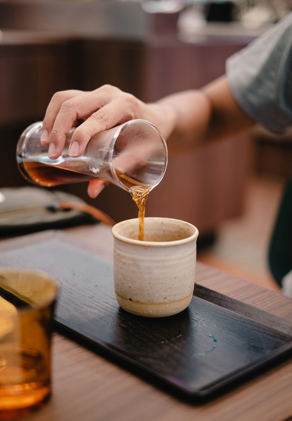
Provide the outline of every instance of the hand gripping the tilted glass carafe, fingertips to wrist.
<path id="1" fill-rule="evenodd" d="M 91 92 L 57 92 L 46 110 L 41 142 L 49 145 L 48 155 L 56 159 L 62 153 L 66 135 L 72 126 L 76 125 L 77 120 L 85 120 L 75 129 L 69 146 L 70 155 L 79 157 L 96 133 L 134 118 L 149 120 L 158 128 L 163 126 L 169 131 L 171 124 L 166 123 L 164 108 L 163 105 L 147 105 L 111 85 L 104 85 Z M 88 195 L 96 197 L 107 184 L 102 180 L 90 181 Z"/>

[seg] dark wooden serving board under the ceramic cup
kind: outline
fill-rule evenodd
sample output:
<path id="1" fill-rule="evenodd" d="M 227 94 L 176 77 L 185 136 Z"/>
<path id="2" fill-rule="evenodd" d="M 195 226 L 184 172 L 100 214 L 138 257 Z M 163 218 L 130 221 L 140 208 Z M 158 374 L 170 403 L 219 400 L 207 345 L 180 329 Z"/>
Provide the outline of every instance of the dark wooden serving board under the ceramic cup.
<path id="1" fill-rule="evenodd" d="M 1 242 L 0 266 L 56 279 L 56 328 L 179 396 L 212 397 L 292 355 L 286 320 L 200 285 L 180 314 L 134 316 L 115 300 L 111 262 L 60 235 L 26 237 Z"/>

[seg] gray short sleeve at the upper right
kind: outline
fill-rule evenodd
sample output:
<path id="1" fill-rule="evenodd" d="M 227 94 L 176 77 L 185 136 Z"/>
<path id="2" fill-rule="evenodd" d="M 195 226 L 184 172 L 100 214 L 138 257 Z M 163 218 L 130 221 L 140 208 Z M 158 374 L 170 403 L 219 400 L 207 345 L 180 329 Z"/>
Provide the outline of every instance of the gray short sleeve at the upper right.
<path id="1" fill-rule="evenodd" d="M 292 13 L 231 56 L 226 75 L 252 119 L 275 132 L 292 125 Z"/>

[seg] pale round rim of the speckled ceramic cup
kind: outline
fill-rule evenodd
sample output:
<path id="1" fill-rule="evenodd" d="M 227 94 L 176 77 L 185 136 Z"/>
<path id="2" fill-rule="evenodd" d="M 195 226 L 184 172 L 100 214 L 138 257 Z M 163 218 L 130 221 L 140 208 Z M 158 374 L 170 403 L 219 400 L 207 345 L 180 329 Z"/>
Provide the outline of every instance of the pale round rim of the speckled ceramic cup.
<path id="1" fill-rule="evenodd" d="M 162 221 L 169 221 L 169 222 L 173 222 L 173 221 L 180 221 L 183 222 L 185 224 L 185 226 L 189 226 L 191 228 L 194 229 L 194 233 L 192 235 L 190 235 L 189 237 L 186 238 L 182 238 L 181 240 L 173 240 L 173 241 L 141 241 L 141 240 L 135 240 L 133 238 L 128 238 L 128 237 L 124 237 L 123 235 L 119 234 L 117 232 L 117 228 L 123 224 L 125 224 L 126 222 L 131 222 L 131 221 L 136 221 L 137 222 L 137 226 L 139 227 L 139 219 L 138 218 L 131 218 L 131 219 L 126 219 L 125 221 L 121 221 L 118 222 L 117 224 L 115 224 L 112 228 L 112 235 L 115 239 L 120 240 L 124 243 L 127 244 L 133 244 L 133 245 L 138 245 L 140 247 L 171 247 L 171 246 L 176 246 L 176 245 L 182 245 L 182 244 L 187 244 L 189 242 L 192 242 L 193 240 L 196 240 L 198 238 L 198 228 L 193 225 L 190 224 L 190 222 L 187 221 L 182 221 L 181 219 L 176 219 L 176 218 L 163 218 L 163 217 L 155 217 L 155 216 L 148 216 L 145 218 L 145 220 L 162 220 Z"/>

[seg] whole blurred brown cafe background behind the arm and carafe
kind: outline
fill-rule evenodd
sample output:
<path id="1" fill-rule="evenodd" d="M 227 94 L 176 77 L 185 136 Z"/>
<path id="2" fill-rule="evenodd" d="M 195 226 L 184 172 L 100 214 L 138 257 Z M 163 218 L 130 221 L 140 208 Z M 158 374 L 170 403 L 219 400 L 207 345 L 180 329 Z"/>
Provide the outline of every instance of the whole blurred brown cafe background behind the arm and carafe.
<path id="1" fill-rule="evenodd" d="M 225 72 L 228 56 L 289 10 L 285 1 L 1 2 L 0 187 L 26 184 L 16 167 L 16 143 L 27 125 L 43 119 L 56 91 L 110 83 L 155 101 L 200 88 Z M 147 216 L 185 219 L 208 237 L 222 221 L 243 213 L 251 167 L 285 174 L 289 156 L 287 138 L 275 142 L 259 129 L 171 157 L 147 200 Z M 116 221 L 137 216 L 129 194 L 117 187 L 95 200 L 84 183 L 58 189 Z"/>

